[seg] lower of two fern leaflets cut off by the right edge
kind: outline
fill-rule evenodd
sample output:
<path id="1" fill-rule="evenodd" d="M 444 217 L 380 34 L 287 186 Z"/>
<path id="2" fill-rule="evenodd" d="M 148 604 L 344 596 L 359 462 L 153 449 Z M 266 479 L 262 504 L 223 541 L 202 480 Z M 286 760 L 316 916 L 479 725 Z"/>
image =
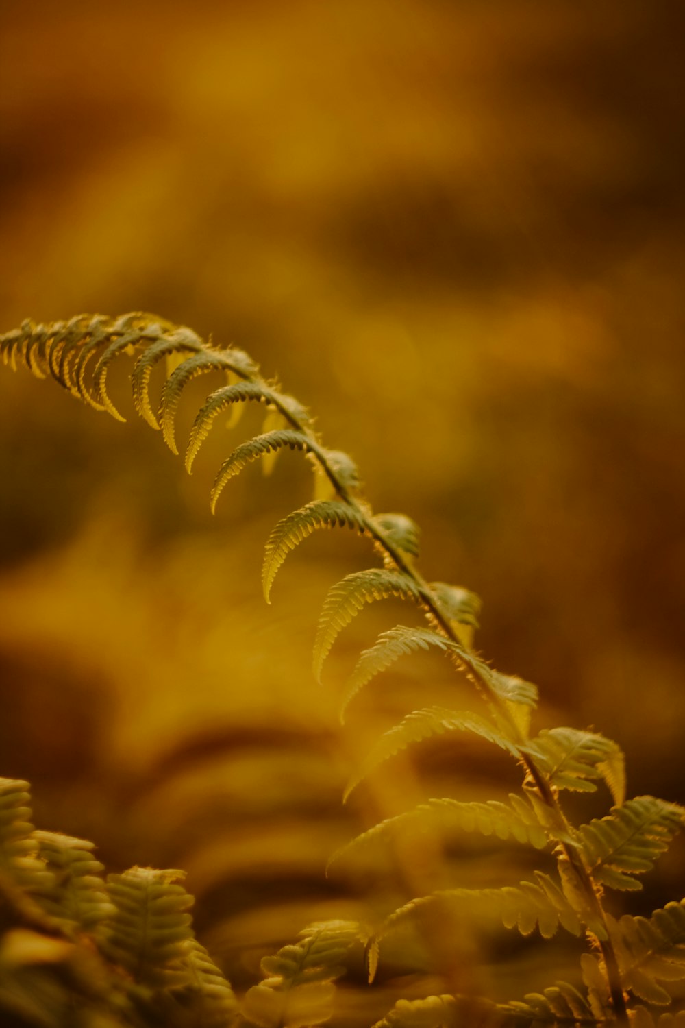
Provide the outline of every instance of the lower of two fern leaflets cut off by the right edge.
<path id="1" fill-rule="evenodd" d="M 685 900 L 609 926 L 625 987 L 648 1003 L 670 1003 L 668 983 L 685 980 Z"/>

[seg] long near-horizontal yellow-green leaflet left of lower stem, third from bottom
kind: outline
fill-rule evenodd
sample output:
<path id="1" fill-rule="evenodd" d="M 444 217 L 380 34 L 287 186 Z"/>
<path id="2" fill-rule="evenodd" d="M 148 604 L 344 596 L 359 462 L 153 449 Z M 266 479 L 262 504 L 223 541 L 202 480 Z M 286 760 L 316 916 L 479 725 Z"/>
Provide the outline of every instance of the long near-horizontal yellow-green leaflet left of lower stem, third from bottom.
<path id="1" fill-rule="evenodd" d="M 536 849 L 546 846 L 547 836 L 530 804 L 515 793 L 509 794 L 508 801 L 468 803 L 452 799 L 427 800 L 413 810 L 380 821 L 352 839 L 333 854 L 329 867 L 357 853 L 373 852 L 383 842 L 391 844 L 397 831 L 418 835 L 428 827 L 444 835 L 455 831 L 481 832 L 486 836 L 495 835 L 498 839 L 516 839 L 521 843 L 529 843 Z"/>

